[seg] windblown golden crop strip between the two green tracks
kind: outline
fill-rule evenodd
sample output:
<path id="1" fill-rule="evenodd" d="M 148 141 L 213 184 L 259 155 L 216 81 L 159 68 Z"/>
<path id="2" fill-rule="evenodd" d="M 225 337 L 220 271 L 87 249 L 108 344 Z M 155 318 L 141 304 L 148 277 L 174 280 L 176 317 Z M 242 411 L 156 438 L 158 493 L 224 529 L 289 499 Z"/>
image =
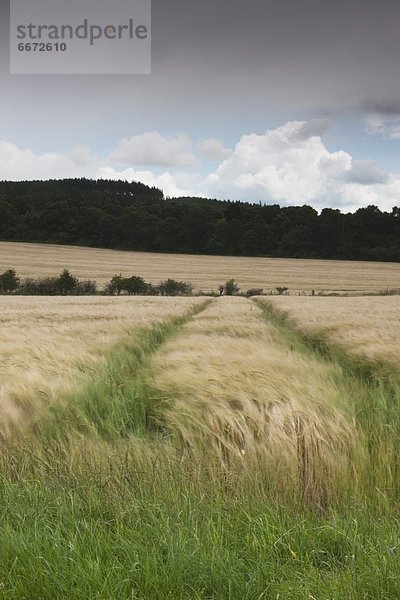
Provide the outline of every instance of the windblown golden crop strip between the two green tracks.
<path id="1" fill-rule="evenodd" d="M 298 483 L 301 438 L 304 477 L 317 502 L 325 485 L 317 471 L 331 482 L 349 471 L 357 432 L 334 370 L 288 350 L 251 300 L 214 300 L 152 367 L 161 397 L 173 400 L 170 428 L 192 452 L 200 443 L 225 467 L 234 457 L 249 468 L 267 463 L 284 489 Z"/>

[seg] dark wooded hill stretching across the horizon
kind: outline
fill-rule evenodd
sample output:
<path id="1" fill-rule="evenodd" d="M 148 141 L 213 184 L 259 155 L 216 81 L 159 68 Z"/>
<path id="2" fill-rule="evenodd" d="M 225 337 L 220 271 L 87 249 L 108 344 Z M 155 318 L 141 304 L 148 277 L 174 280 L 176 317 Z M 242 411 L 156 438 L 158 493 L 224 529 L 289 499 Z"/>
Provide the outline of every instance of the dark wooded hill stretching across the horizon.
<path id="1" fill-rule="evenodd" d="M 142 250 L 400 262 L 400 208 L 354 214 L 204 198 L 141 183 L 0 182 L 0 240 Z"/>

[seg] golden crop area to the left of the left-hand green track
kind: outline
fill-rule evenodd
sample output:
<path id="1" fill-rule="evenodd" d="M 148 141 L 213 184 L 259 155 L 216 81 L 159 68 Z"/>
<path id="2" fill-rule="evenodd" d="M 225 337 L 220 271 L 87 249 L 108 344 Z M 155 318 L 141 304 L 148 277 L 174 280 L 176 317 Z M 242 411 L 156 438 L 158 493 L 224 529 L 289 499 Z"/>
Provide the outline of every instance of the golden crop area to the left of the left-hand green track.
<path id="1" fill-rule="evenodd" d="M 76 385 L 80 373 L 136 327 L 176 316 L 198 298 L 0 296 L 0 437 Z"/>

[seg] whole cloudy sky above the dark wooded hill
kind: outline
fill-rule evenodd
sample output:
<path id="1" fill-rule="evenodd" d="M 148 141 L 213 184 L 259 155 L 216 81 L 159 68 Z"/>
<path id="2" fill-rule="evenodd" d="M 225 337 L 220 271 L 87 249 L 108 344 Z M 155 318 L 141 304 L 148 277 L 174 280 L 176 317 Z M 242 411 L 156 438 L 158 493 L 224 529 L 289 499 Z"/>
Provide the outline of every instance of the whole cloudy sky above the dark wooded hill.
<path id="1" fill-rule="evenodd" d="M 398 0 L 153 0 L 150 75 L 10 75 L 0 2 L 0 180 L 400 205 Z"/>

